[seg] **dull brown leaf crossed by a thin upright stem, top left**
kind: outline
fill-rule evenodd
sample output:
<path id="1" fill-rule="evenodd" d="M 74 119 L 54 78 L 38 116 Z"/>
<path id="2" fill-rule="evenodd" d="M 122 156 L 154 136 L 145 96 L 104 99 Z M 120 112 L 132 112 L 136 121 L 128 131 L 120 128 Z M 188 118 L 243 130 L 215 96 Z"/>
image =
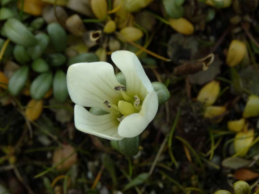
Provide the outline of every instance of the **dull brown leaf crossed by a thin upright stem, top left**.
<path id="1" fill-rule="evenodd" d="M 44 7 L 42 11 L 42 17 L 48 24 L 53 22 L 60 22 L 62 26 L 65 26 L 68 14 L 61 6 L 56 6 L 56 16 L 54 12 L 54 7 L 52 5 L 47 5 Z"/>

